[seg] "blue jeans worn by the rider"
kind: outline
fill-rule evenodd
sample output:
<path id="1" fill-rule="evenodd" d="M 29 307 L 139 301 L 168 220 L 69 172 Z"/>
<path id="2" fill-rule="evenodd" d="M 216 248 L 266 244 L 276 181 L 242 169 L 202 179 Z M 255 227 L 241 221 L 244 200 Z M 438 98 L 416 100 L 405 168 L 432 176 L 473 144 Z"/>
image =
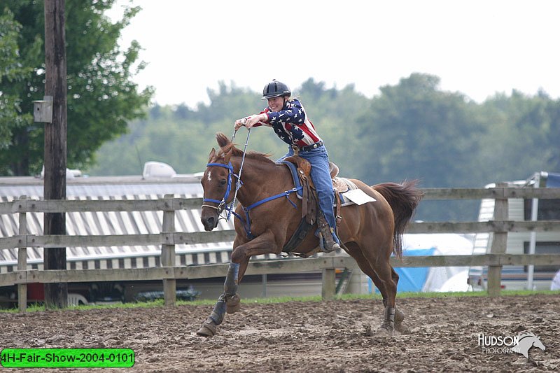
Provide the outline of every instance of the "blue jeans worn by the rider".
<path id="1" fill-rule="evenodd" d="M 280 160 L 284 160 L 287 157 L 293 155 L 293 149 L 288 146 L 288 153 L 281 157 Z M 325 146 L 319 146 L 307 151 L 300 151 L 300 157 L 304 160 L 308 160 L 311 163 L 311 180 L 315 185 L 317 190 L 317 197 L 319 199 L 319 209 L 323 211 L 323 215 L 327 220 L 329 227 L 335 228 L 335 213 L 332 210 L 332 206 L 335 204 L 335 190 L 332 189 L 332 179 L 330 178 L 330 171 L 328 167 L 328 153 Z M 340 243 L 336 234 L 332 234 L 332 238 L 335 239 L 337 244 Z"/>

